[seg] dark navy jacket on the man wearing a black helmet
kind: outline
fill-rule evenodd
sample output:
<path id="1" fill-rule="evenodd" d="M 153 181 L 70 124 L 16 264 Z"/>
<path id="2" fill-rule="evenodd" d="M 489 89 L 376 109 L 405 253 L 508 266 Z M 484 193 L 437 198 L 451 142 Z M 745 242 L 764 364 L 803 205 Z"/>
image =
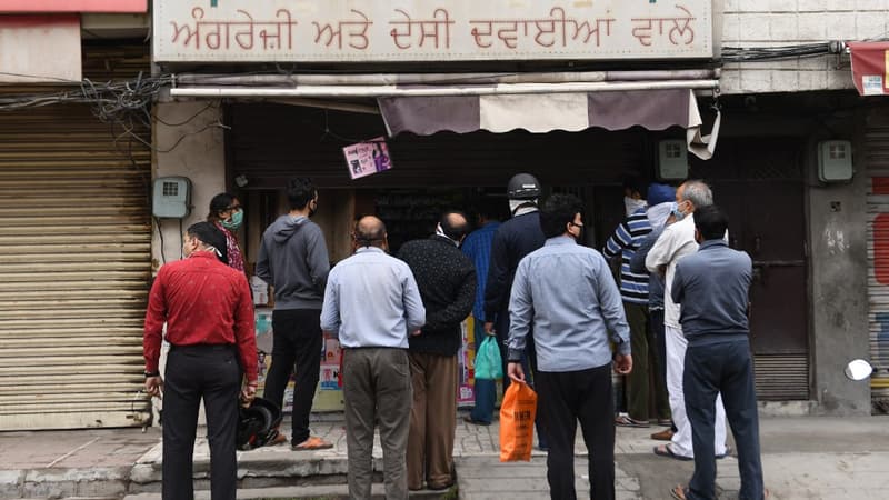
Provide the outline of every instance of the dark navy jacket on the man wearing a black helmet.
<path id="1" fill-rule="evenodd" d="M 542 247 L 546 240 L 540 229 L 540 212 L 516 216 L 497 228 L 491 243 L 488 284 L 485 286 L 486 320 L 493 321 L 498 314 L 507 313 L 519 261 Z"/>

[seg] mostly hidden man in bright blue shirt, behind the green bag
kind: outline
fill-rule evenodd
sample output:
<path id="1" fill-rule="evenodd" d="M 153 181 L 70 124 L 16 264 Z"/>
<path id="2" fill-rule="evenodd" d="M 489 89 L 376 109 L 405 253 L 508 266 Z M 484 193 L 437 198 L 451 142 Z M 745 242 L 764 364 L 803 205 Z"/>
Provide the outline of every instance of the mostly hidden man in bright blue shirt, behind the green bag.
<path id="1" fill-rule="evenodd" d="M 491 262 L 491 243 L 493 242 L 493 236 L 497 233 L 497 228 L 500 227 L 498 210 L 492 203 L 480 204 L 478 211 L 479 229 L 470 232 L 460 248 L 463 254 L 476 264 L 476 277 L 478 278 L 476 281 L 476 302 L 472 306 L 472 323 L 475 324 L 472 334 L 477 351 L 481 346 L 481 341 L 488 337 L 485 331 L 485 286 L 488 282 L 488 268 Z M 476 407 L 463 420 L 469 423 L 490 426 L 493 404 L 497 399 L 496 391 L 497 382 L 495 380 L 476 379 L 473 388 Z"/>

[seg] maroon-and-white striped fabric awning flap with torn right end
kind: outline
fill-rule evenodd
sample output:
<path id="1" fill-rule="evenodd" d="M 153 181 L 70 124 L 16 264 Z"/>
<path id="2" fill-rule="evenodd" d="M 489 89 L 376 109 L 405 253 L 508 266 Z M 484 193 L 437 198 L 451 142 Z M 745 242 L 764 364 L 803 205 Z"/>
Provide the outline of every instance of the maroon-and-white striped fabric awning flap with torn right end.
<path id="1" fill-rule="evenodd" d="M 716 149 L 721 119 L 717 111 L 712 133 L 702 136 L 700 111 L 690 89 L 394 97 L 378 101 L 390 136 L 431 136 L 446 130 L 573 132 L 591 127 L 623 130 L 633 126 L 663 130 L 678 126 L 686 129 L 689 151 L 705 160 Z"/>

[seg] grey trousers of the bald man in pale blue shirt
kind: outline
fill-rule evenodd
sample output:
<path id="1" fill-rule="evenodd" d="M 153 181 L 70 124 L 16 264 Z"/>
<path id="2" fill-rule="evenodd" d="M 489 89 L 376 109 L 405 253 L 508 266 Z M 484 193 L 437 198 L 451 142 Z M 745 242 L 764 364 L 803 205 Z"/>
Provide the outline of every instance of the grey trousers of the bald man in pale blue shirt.
<path id="1" fill-rule="evenodd" d="M 406 349 L 346 349 L 342 359 L 349 498 L 370 499 L 373 428 L 380 426 L 387 499 L 408 498 L 407 447 L 412 401 Z"/>

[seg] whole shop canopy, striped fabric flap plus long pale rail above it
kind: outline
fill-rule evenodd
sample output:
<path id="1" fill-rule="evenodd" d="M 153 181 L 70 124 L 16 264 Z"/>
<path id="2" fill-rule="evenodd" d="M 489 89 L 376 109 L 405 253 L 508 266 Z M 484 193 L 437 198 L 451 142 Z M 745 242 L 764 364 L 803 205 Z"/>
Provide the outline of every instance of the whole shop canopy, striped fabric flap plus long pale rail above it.
<path id="1" fill-rule="evenodd" d="M 710 159 L 716 149 L 720 114 L 709 136 L 701 133 L 701 114 L 693 89 L 715 89 L 718 80 L 581 81 L 483 84 L 301 84 L 284 87 L 203 87 L 214 77 L 180 78 L 186 83 L 173 97 L 264 98 L 273 100 L 376 98 L 391 137 L 401 132 L 430 136 L 488 130 L 523 129 L 545 133 L 580 131 L 592 127 L 622 130 L 643 127 L 686 129 L 688 150 Z M 189 83 L 199 86 L 190 87 Z M 318 82 L 312 82 L 318 83 Z M 358 84 L 356 84 L 358 83 Z M 362 82 L 364 83 L 364 82 Z M 317 102 L 317 101 L 314 101 Z"/>

